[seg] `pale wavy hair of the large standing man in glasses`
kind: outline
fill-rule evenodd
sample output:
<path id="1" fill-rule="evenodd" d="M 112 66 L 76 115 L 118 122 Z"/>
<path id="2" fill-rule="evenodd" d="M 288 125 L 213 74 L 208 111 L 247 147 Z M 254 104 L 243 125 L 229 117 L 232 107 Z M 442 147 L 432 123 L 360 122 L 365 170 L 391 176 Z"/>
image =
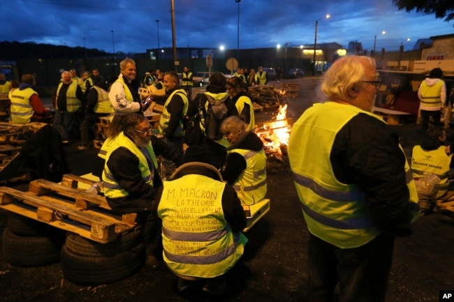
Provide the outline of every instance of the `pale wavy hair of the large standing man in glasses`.
<path id="1" fill-rule="evenodd" d="M 354 86 L 364 80 L 364 61 L 375 66 L 374 59 L 369 56 L 344 56 L 335 61 L 325 73 L 321 91 L 328 98 L 348 100 L 350 98 L 349 91 L 354 90 Z"/>

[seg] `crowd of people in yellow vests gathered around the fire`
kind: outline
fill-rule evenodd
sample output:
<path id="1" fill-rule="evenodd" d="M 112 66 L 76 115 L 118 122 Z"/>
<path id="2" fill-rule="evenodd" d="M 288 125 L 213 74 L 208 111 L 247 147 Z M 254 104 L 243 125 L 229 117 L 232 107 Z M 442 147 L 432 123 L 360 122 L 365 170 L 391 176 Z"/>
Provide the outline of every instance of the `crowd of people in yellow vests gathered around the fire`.
<path id="1" fill-rule="evenodd" d="M 192 96 L 187 67 L 180 84 L 173 71 L 149 70 L 140 83 L 132 59 L 119 66 L 110 86 L 98 70 L 81 79 L 75 70 L 64 71 L 53 126 L 65 142 L 83 113 L 83 150 L 97 119 L 110 116 L 108 138 L 98 153 L 103 165 L 94 174 L 103 181 L 112 211 L 138 213 L 145 266 L 157 269 L 164 262 L 179 292 L 201 285 L 222 294 L 225 275 L 247 244 L 243 206 L 267 194 L 267 158 L 247 95 L 248 86 L 268 82 L 266 73 L 261 67 L 238 68 L 229 79 L 213 73 L 206 91 Z M 337 289 L 339 301 L 385 301 L 395 237 L 411 235 L 411 222 L 421 214 L 418 181 L 430 173 L 439 177 L 424 213 L 454 199 L 448 189 L 454 146 L 444 146 L 446 133 L 437 127 L 447 101 L 440 72 L 432 70 L 418 92 L 427 133 L 411 161 L 394 130 L 373 114 L 381 81 L 367 56 L 335 61 L 321 85 L 327 100 L 293 124 L 288 158 L 310 233 L 307 301 L 332 301 Z M 35 84 L 32 75 L 24 75 L 10 92 L 13 121 L 49 116 Z M 166 91 L 157 128 L 144 114 L 149 104 L 140 97 L 141 85 Z M 186 137 L 190 116 L 199 116 L 196 142 Z"/>

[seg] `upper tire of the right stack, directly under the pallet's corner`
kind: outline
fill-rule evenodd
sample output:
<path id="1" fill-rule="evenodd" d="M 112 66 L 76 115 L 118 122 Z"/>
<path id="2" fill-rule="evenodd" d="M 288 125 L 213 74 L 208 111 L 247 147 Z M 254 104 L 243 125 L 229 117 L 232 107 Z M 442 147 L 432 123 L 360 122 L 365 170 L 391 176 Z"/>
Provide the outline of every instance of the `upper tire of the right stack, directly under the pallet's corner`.
<path id="1" fill-rule="evenodd" d="M 75 255 L 83 257 L 108 257 L 119 252 L 126 252 L 143 242 L 141 229 L 135 229 L 124 233 L 114 241 L 99 243 L 86 239 L 78 234 L 68 232 L 66 234 L 66 248 Z"/>

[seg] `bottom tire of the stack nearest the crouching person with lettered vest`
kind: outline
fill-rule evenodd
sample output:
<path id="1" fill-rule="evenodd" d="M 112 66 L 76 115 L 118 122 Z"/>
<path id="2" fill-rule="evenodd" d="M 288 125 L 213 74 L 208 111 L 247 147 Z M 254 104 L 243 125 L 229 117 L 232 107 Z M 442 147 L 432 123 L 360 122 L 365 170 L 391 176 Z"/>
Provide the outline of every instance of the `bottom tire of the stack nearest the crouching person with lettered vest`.
<path id="1" fill-rule="evenodd" d="M 75 255 L 67 246 L 61 248 L 61 267 L 64 276 L 80 285 L 103 285 L 122 280 L 142 267 L 145 244 L 109 257 Z"/>

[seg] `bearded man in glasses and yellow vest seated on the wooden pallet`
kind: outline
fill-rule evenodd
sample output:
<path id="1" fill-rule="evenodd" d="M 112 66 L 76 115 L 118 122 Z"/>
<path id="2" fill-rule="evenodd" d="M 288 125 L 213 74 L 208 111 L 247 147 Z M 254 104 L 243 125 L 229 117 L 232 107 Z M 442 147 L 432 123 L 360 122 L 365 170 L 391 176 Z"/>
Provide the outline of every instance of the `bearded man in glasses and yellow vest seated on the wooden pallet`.
<path id="1" fill-rule="evenodd" d="M 137 213 L 136 222 L 144 228 L 145 267 L 158 269 L 163 250 L 157 207 L 163 181 L 156 156 L 165 156 L 181 165 L 183 154 L 152 135 L 147 117 L 140 112 L 123 114 L 121 123 L 112 128 L 119 133 L 115 135 L 112 129 L 104 149 L 104 195 L 115 213 Z"/>

